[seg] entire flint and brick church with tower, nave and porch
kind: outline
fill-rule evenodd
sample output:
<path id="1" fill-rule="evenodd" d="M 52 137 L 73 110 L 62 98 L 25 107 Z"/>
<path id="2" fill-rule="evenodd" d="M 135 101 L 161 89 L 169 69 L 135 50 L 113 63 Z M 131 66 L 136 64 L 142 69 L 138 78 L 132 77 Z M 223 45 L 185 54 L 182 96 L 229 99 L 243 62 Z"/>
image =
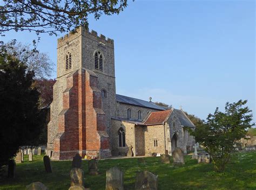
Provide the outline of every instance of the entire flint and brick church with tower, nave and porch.
<path id="1" fill-rule="evenodd" d="M 57 40 L 47 151 L 53 160 L 184 153 L 195 126 L 182 109 L 116 94 L 114 41 L 79 27 Z"/>

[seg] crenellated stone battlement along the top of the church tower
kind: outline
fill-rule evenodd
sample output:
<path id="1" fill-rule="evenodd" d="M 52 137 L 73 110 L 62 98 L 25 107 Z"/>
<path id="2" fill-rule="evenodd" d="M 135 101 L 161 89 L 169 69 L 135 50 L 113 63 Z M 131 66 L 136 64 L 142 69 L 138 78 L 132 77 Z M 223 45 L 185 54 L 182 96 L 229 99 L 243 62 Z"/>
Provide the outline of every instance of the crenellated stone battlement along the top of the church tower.
<path id="1" fill-rule="evenodd" d="M 57 44 L 58 47 L 64 45 L 64 44 L 69 44 L 69 42 L 75 38 L 77 38 L 78 36 L 87 36 L 90 38 L 93 38 L 97 41 L 102 41 L 102 43 L 109 45 L 109 46 L 113 46 L 114 44 L 114 40 L 111 38 L 106 38 L 103 34 L 100 34 L 98 36 L 98 33 L 94 30 L 89 31 L 89 29 L 86 29 L 86 27 L 84 26 L 80 26 L 78 27 L 75 31 L 69 32 L 68 34 L 65 34 L 65 36 L 58 38 L 57 40 Z"/>

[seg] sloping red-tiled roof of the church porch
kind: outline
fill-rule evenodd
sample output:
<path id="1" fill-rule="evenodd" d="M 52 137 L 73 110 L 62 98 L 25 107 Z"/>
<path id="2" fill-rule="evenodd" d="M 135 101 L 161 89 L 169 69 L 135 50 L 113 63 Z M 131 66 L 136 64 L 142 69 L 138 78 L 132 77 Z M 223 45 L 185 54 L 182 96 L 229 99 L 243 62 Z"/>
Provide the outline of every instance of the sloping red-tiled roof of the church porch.
<path id="1" fill-rule="evenodd" d="M 150 115 L 146 118 L 144 124 L 145 125 L 163 124 L 170 117 L 171 112 L 172 110 L 151 112 Z"/>

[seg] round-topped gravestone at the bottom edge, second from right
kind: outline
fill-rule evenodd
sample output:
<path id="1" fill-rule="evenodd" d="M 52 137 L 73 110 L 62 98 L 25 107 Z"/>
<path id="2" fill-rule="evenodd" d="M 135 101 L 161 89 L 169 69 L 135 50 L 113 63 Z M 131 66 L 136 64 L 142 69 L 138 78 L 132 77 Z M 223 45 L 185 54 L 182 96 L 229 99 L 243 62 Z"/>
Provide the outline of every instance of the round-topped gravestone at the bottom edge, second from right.
<path id="1" fill-rule="evenodd" d="M 124 174 L 118 167 L 106 171 L 106 190 L 124 190 Z"/>

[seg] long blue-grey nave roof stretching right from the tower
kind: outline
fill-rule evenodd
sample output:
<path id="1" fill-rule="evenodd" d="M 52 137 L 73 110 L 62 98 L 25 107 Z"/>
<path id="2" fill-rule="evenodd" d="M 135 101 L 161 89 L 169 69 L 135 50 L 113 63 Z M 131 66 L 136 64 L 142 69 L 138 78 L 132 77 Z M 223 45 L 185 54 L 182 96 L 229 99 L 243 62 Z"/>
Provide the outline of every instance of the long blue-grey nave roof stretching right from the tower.
<path id="1" fill-rule="evenodd" d="M 116 94 L 116 100 L 117 100 L 117 102 L 120 102 L 120 103 L 137 105 L 138 107 L 152 108 L 152 109 L 156 109 L 156 110 L 165 110 L 165 108 L 163 108 L 160 105 L 157 105 L 153 102 L 140 100 L 140 99 L 137 99 L 134 97 L 128 97 L 128 96 Z"/>

